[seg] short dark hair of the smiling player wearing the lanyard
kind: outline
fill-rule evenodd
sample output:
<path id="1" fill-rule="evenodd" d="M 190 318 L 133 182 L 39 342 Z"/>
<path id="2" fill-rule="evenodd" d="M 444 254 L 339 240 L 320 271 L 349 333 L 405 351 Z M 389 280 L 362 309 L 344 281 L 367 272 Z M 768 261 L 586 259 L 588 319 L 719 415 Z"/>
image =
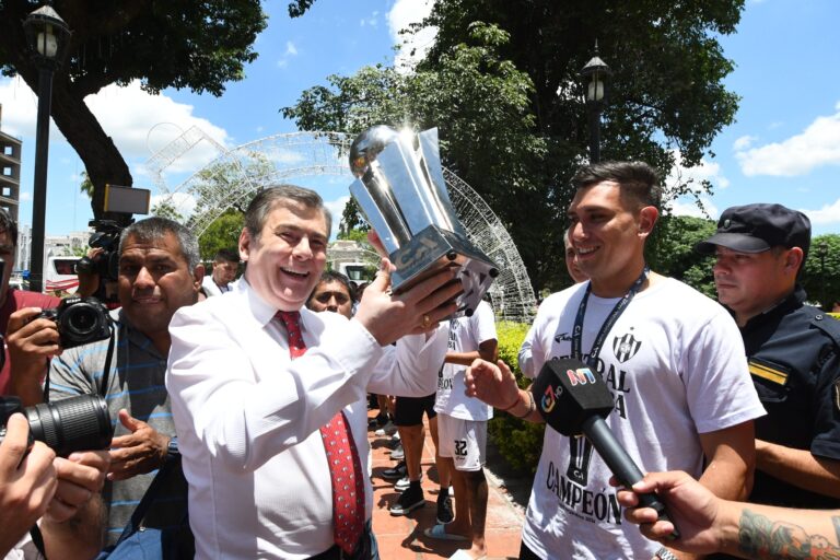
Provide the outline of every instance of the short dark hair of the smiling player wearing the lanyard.
<path id="1" fill-rule="evenodd" d="M 621 195 L 628 196 L 641 207 L 660 208 L 662 186 L 656 170 L 644 162 L 599 162 L 578 170 L 572 186 L 584 189 L 604 182 L 618 183 Z"/>

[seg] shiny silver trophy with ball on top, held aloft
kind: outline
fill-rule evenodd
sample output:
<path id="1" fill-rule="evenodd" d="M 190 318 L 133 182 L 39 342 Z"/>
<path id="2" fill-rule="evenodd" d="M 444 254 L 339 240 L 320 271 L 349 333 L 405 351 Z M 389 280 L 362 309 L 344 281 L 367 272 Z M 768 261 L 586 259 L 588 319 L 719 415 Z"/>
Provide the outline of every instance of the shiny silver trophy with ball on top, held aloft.
<path id="1" fill-rule="evenodd" d="M 415 148 L 415 140 L 417 148 Z M 464 293 L 457 315 L 472 315 L 499 268 L 468 238 L 443 178 L 438 129 L 400 135 L 369 128 L 350 147 L 350 194 L 382 240 L 397 270 L 395 293 L 442 266 L 459 267 Z"/>

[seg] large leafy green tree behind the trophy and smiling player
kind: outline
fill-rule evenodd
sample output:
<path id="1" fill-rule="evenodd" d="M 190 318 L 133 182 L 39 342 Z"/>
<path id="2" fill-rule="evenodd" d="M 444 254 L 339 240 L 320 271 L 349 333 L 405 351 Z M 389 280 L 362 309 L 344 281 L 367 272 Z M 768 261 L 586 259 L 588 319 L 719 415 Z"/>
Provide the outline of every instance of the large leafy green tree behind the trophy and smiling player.
<path id="1" fill-rule="evenodd" d="M 716 37 L 734 32 L 743 5 L 439 0 L 415 27 L 439 27 L 415 73 L 377 67 L 330 77 L 330 86 L 307 90 L 283 114 L 310 130 L 328 124 L 326 129 L 358 132 L 361 122 L 406 120 L 417 128 L 439 126 L 444 164 L 505 223 L 535 287 L 552 287 L 563 278 L 569 179 L 587 159 L 579 72 L 596 39 L 614 72 L 603 156 L 646 161 L 664 177 L 675 151 L 684 165 L 698 164 L 733 120 L 737 96 L 723 85 L 733 66 Z M 669 195 L 688 190 L 681 184 Z"/>

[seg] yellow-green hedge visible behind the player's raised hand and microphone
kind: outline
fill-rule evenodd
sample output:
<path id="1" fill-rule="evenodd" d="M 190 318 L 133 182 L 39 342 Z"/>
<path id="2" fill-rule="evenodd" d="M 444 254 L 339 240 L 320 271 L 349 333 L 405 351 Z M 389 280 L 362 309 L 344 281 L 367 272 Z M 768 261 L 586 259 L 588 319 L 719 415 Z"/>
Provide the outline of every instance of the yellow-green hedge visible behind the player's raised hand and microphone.
<path id="1" fill-rule="evenodd" d="M 530 380 L 522 375 L 516 361 L 528 327 L 529 325 L 510 322 L 500 322 L 495 325 L 499 336 L 499 359 L 511 368 L 521 387 L 530 385 Z M 511 467 L 523 474 L 534 475 L 542 451 L 545 429 L 542 423 L 526 422 L 497 410 L 488 425 L 488 433 Z"/>

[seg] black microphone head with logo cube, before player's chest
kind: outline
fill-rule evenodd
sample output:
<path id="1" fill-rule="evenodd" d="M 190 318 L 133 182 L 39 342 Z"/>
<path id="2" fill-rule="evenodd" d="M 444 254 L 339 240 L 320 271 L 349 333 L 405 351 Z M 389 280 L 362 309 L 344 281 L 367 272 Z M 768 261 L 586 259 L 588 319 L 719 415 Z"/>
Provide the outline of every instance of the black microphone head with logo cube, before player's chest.
<path id="1" fill-rule="evenodd" d="M 549 360 L 532 387 L 537 410 L 563 435 L 580 435 L 587 418 L 607 418 L 612 395 L 604 380 L 580 360 Z"/>

